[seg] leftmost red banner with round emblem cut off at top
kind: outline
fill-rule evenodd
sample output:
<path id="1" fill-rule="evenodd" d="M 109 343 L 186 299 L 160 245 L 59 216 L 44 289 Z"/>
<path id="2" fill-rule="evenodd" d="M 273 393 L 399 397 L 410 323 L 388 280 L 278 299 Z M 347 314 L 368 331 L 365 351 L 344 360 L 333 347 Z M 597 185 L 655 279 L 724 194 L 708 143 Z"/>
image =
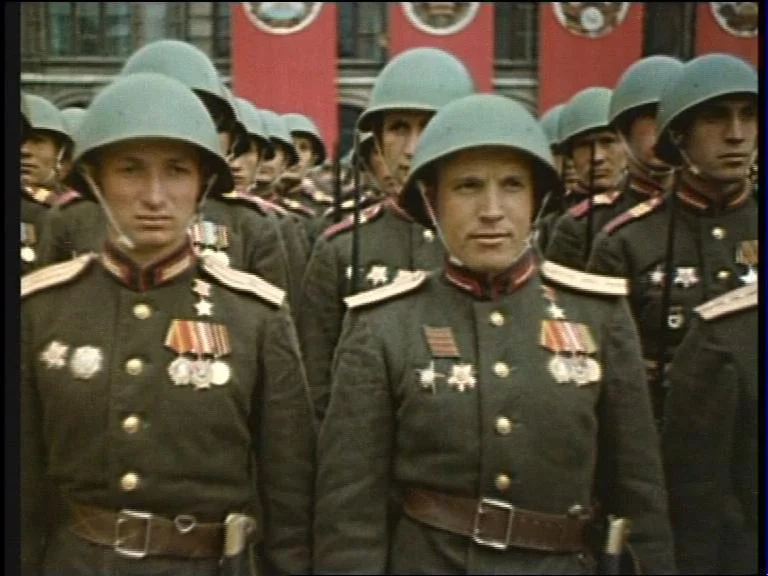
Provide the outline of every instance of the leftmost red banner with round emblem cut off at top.
<path id="1" fill-rule="evenodd" d="M 309 116 L 331 155 L 338 135 L 336 3 L 231 5 L 234 93 L 258 108 Z"/>

